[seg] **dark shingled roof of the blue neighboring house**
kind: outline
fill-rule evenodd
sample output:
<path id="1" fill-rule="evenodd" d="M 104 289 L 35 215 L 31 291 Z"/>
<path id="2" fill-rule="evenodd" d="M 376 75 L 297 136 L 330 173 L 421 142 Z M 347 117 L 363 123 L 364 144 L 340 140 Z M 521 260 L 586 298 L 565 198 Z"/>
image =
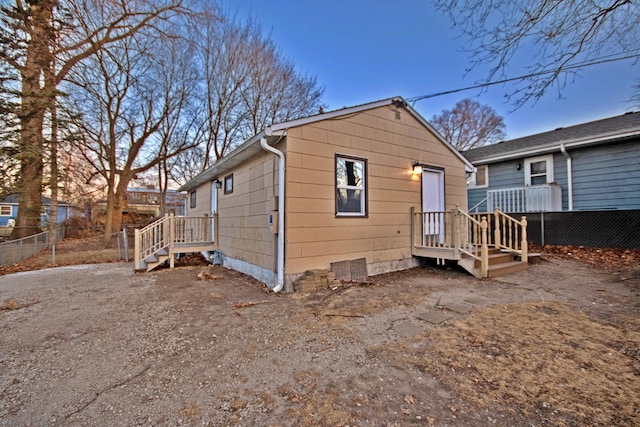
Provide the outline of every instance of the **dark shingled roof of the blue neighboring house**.
<path id="1" fill-rule="evenodd" d="M 640 136 L 640 112 L 558 128 L 548 132 L 498 142 L 464 151 L 474 164 L 550 153 L 552 151 L 609 143 Z"/>

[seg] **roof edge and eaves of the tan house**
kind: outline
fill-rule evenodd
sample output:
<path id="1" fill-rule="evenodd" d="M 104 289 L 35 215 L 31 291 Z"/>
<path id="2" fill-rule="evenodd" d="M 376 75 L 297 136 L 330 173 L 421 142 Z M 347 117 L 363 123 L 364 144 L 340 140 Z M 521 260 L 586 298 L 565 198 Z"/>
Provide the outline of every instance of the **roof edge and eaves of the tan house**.
<path id="1" fill-rule="evenodd" d="M 374 101 L 366 104 L 356 105 L 353 107 L 345 107 L 339 110 L 328 111 L 326 113 L 315 114 L 308 117 L 303 117 L 300 119 L 290 120 L 283 123 L 273 124 L 266 129 L 264 129 L 259 134 L 253 136 L 252 138 L 243 142 L 240 146 L 238 146 L 231 153 L 226 156 L 218 159 L 216 163 L 214 163 L 210 168 L 201 172 L 195 178 L 191 179 L 189 182 L 184 184 L 182 187 L 178 189 L 178 191 L 190 191 L 194 188 L 204 184 L 205 182 L 211 181 L 216 177 L 224 174 L 226 171 L 236 167 L 240 163 L 248 160 L 252 156 L 262 151 L 262 147 L 260 146 L 260 140 L 262 138 L 266 138 L 267 143 L 269 145 L 275 145 L 280 141 L 284 136 L 286 136 L 287 129 L 303 126 L 310 123 L 320 122 L 322 120 L 330 120 L 338 117 L 347 116 L 349 114 L 359 113 L 366 110 L 371 110 L 378 107 L 384 107 L 388 105 L 396 105 L 406 109 L 412 116 L 414 116 L 422 125 L 428 128 L 437 138 L 445 144 L 451 152 L 458 157 L 460 160 L 464 162 L 466 168 L 469 170 L 473 169 L 473 165 L 462 155 L 459 151 L 457 151 L 451 144 L 446 142 L 444 138 L 436 131 L 430 124 L 427 122 L 417 111 L 415 111 L 402 97 L 393 97 L 387 98 L 380 101 Z"/>

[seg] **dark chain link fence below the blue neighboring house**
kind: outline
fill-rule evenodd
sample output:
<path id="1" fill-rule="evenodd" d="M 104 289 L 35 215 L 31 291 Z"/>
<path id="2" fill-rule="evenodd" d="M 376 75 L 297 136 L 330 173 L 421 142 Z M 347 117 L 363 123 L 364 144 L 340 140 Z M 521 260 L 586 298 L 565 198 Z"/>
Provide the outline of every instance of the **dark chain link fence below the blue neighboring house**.
<path id="1" fill-rule="evenodd" d="M 527 217 L 529 242 L 590 248 L 640 248 L 640 210 L 512 213 Z"/>

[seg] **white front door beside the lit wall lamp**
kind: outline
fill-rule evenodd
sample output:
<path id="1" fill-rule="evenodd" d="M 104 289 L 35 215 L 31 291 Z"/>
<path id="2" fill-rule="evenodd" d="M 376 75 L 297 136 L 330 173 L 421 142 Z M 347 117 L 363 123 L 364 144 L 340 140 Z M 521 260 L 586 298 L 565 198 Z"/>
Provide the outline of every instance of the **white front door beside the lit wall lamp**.
<path id="1" fill-rule="evenodd" d="M 425 234 L 444 243 L 444 171 L 422 168 L 422 211 Z"/>

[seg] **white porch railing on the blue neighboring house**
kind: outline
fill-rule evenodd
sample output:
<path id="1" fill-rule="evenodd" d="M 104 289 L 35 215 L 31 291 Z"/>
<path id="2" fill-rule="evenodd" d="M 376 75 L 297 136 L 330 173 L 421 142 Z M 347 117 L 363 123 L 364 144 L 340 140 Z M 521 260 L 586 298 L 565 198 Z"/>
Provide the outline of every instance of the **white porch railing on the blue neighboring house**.
<path id="1" fill-rule="evenodd" d="M 556 184 L 501 188 L 487 191 L 487 211 L 549 212 L 562 210 L 562 189 Z"/>

